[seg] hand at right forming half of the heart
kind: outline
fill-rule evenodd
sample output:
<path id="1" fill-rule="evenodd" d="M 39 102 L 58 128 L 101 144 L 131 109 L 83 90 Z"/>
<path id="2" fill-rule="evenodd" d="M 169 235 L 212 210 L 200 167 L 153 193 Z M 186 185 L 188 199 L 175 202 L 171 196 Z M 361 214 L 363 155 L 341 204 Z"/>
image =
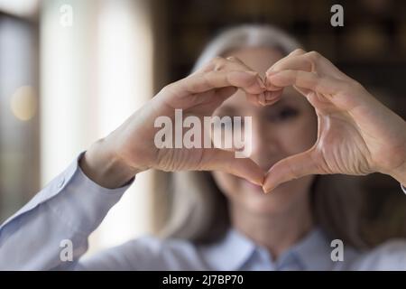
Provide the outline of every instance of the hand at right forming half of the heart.
<path id="1" fill-rule="evenodd" d="M 275 100 L 289 86 L 309 100 L 318 139 L 275 163 L 264 191 L 309 174 L 382 172 L 406 184 L 406 122 L 318 52 L 293 51 L 267 71 L 266 84 Z"/>

